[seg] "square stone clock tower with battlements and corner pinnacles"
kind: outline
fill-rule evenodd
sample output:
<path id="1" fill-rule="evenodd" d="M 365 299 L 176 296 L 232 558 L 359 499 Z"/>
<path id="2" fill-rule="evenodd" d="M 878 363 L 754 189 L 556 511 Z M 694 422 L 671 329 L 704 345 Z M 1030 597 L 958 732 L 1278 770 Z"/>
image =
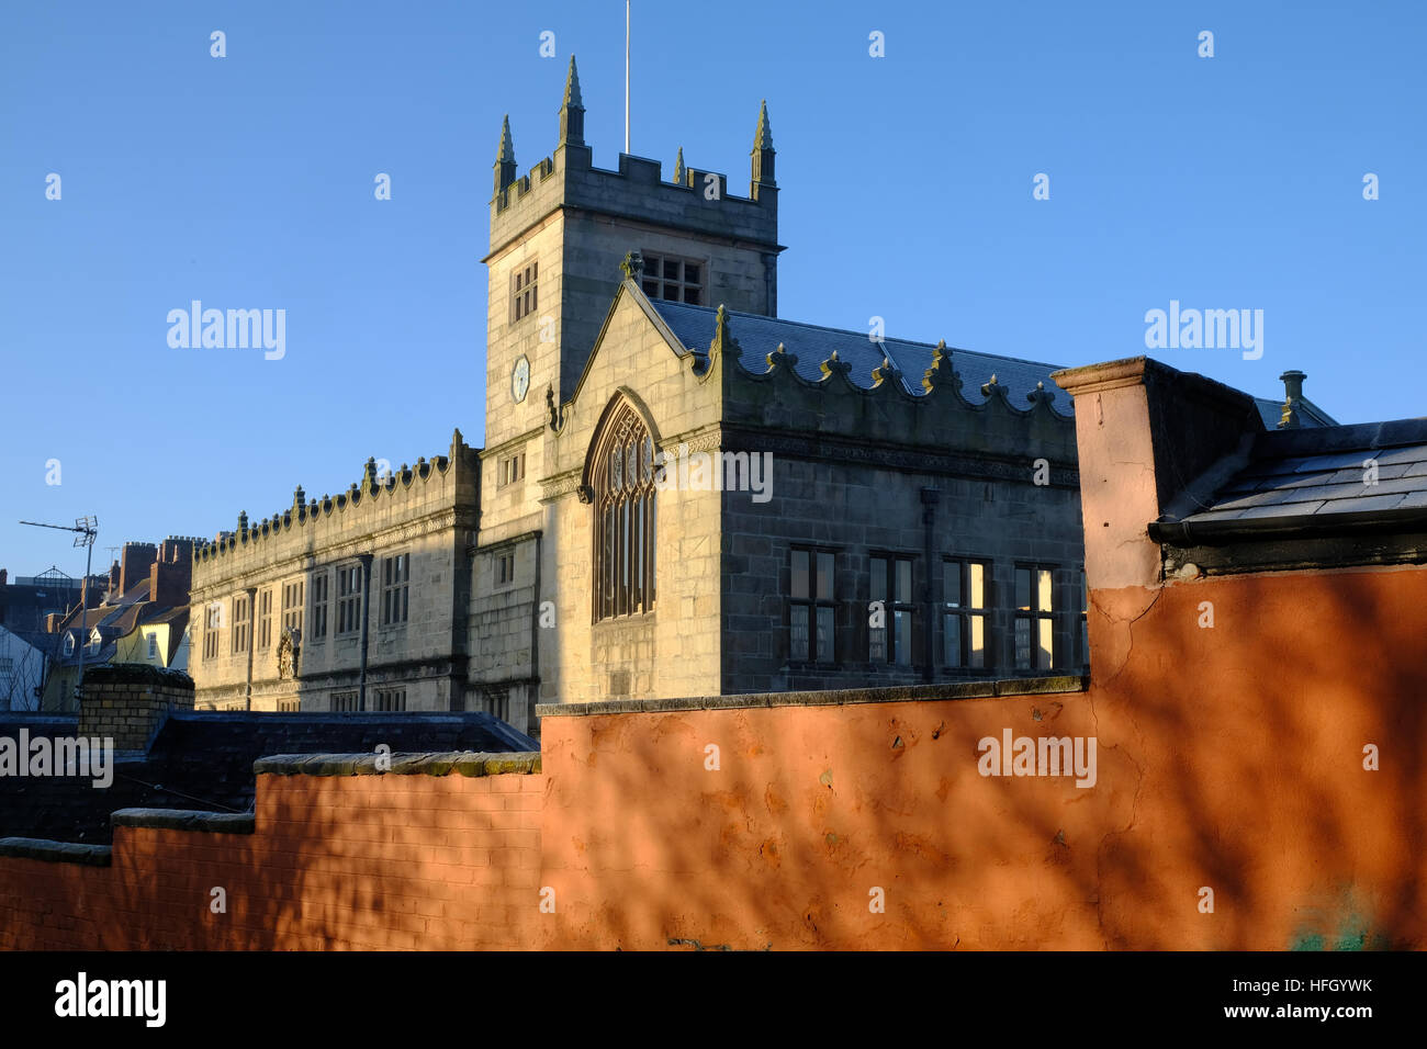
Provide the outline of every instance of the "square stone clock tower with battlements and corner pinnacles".
<path id="1" fill-rule="evenodd" d="M 748 197 L 726 176 L 619 154 L 596 168 L 574 57 L 565 76 L 555 151 L 517 176 L 509 118 L 501 126 L 491 200 L 482 534 L 535 512 L 549 408 L 568 402 L 589 360 L 629 253 L 645 260 L 651 298 L 776 315 L 778 187 L 763 107 L 753 134 Z M 631 382 L 638 382 L 632 375 Z M 527 481 L 527 474 L 529 481 Z M 482 542 L 485 541 L 482 535 Z"/>

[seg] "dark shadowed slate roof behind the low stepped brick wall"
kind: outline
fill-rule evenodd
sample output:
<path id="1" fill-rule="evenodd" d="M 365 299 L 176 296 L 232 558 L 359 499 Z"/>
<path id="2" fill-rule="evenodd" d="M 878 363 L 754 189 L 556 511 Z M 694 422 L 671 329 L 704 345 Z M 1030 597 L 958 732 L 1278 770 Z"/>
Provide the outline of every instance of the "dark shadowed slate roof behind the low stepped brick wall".
<path id="1" fill-rule="evenodd" d="M 73 736 L 74 715 L 0 712 L 0 735 Z M 184 711 L 160 729 L 144 761 L 116 765 L 114 782 L 94 789 L 71 776 L 0 778 L 0 838 L 106 845 L 110 814 L 121 808 L 245 812 L 253 762 L 278 754 L 392 754 L 538 751 L 539 744 L 489 714 L 265 714 Z"/>

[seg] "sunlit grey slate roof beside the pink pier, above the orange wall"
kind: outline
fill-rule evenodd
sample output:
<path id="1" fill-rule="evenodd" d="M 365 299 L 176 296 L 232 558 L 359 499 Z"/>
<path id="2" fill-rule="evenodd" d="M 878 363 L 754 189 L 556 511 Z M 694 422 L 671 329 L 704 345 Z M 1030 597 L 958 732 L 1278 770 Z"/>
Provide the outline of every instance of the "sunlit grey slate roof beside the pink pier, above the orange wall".
<path id="1" fill-rule="evenodd" d="M 1169 525 L 1184 541 L 1391 528 L 1418 518 L 1427 518 L 1427 418 L 1257 434 L 1247 461 L 1202 510 L 1156 531 Z"/>

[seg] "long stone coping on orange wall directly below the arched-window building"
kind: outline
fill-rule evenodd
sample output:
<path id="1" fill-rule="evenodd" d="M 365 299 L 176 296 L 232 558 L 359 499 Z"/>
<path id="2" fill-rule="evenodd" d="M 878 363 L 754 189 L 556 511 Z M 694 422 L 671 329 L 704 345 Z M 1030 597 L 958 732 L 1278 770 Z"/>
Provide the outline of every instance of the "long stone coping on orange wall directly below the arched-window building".
<path id="1" fill-rule="evenodd" d="M 889 685 L 886 688 L 832 688 L 809 692 L 751 692 L 706 695 L 685 699 L 602 699 L 589 704 L 539 704 L 538 718 L 579 718 L 602 714 L 659 714 L 664 711 L 721 711 L 751 706 L 846 706 L 850 704 L 938 702 L 945 699 L 989 699 L 1053 692 L 1085 692 L 1090 679 L 1077 675 L 1055 678 L 1005 678 L 1000 681 L 956 681 L 936 685 Z"/>

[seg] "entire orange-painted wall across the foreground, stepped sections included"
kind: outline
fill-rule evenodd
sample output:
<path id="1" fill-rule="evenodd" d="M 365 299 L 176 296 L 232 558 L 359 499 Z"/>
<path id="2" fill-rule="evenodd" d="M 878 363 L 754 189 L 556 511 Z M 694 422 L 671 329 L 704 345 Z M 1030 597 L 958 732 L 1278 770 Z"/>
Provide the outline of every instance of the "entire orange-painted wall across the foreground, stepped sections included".
<path id="1" fill-rule="evenodd" d="M 0 859 L 0 946 L 1427 948 L 1427 571 L 1102 589 L 1090 624 L 1086 694 L 557 716 L 541 775 L 261 776 L 254 835 Z M 1006 728 L 1095 735 L 1096 785 L 980 776 Z"/>

